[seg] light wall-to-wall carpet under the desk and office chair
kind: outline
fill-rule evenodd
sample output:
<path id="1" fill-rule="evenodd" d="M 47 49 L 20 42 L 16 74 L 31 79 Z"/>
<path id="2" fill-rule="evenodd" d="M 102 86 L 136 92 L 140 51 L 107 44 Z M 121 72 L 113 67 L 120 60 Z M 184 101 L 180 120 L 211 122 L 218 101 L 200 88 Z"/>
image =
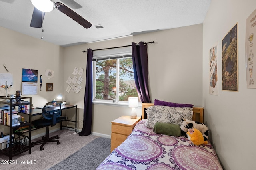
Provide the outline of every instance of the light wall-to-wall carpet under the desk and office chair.
<path id="1" fill-rule="evenodd" d="M 58 164 L 68 156 L 74 154 L 76 151 L 80 150 L 84 146 L 88 145 L 90 142 L 99 136 L 89 135 L 89 136 L 79 136 L 78 134 L 73 135 L 74 131 L 68 129 L 58 130 L 56 132 L 50 133 L 50 137 L 58 134 L 60 136 L 60 144 L 57 145 L 54 142 L 48 142 L 44 146 L 44 150 L 40 150 L 40 144 L 35 145 L 31 148 L 31 154 L 24 152 L 17 156 L 14 156 L 14 164 L 0 164 L 0 170 L 48 170 L 54 165 Z M 32 142 L 40 140 L 40 138 L 32 140 Z M 106 139 L 108 143 L 108 154 L 110 154 L 110 139 Z M 96 140 L 97 141 L 97 140 Z M 97 153 L 98 154 L 98 153 Z M 86 155 L 83 155 L 86 156 Z M 0 160 L 9 160 L 9 157 L 5 154 L 0 153 Z M 28 161 L 36 161 L 36 164 L 28 164 Z M 18 162 L 24 162 L 18 163 Z"/>

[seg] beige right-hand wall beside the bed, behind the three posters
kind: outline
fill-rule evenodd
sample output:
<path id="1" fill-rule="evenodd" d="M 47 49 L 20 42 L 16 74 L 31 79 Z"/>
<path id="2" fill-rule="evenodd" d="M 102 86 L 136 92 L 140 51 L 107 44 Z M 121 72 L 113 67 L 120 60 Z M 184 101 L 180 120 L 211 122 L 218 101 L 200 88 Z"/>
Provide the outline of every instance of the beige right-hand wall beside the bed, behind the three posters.
<path id="1" fill-rule="evenodd" d="M 252 143 L 256 89 L 246 87 L 246 19 L 255 0 L 212 0 L 203 23 L 203 106 L 205 123 L 218 157 L 226 170 L 256 169 Z M 238 92 L 222 91 L 222 39 L 238 22 Z M 209 94 L 209 50 L 218 42 L 218 96 Z"/>

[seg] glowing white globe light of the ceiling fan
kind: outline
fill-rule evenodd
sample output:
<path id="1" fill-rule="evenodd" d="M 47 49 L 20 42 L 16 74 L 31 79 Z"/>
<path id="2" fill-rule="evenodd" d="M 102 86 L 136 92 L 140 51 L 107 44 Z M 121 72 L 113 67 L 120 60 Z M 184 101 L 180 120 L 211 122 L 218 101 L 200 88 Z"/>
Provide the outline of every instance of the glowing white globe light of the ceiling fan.
<path id="1" fill-rule="evenodd" d="M 52 0 L 30 0 L 31 3 L 38 10 L 42 12 L 50 12 L 54 9 L 54 2 Z"/>

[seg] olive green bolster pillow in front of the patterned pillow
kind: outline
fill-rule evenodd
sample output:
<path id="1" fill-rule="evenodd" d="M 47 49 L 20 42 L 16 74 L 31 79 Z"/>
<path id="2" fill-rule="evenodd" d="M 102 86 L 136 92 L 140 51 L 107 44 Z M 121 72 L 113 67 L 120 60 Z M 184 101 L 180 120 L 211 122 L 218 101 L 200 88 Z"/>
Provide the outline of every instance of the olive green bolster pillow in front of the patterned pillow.
<path id="1" fill-rule="evenodd" d="M 166 134 L 169 136 L 181 136 L 180 125 L 171 123 L 157 122 L 154 126 L 154 132 L 158 134 Z"/>

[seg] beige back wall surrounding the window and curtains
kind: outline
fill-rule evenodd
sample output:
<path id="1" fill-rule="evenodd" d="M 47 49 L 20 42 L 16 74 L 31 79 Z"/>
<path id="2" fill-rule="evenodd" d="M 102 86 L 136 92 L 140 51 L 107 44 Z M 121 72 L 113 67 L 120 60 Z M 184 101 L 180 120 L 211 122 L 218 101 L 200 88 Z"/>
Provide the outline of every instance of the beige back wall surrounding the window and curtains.
<path id="1" fill-rule="evenodd" d="M 202 106 L 202 24 L 66 47 L 64 90 L 67 86 L 66 78 L 74 67 L 83 67 L 86 70 L 87 53 L 82 53 L 83 50 L 119 47 L 140 41 L 155 41 L 154 44 L 148 44 L 151 101 L 159 99 Z M 85 81 L 82 83 L 82 87 L 84 86 Z M 84 88 L 79 94 L 64 92 L 64 96 L 79 108 L 83 108 Z M 141 108 L 137 108 L 137 113 L 138 116 L 141 115 Z M 110 136 L 111 121 L 121 115 L 130 115 L 130 108 L 94 104 L 92 131 Z M 79 109 L 80 129 L 82 118 L 83 109 Z"/>

